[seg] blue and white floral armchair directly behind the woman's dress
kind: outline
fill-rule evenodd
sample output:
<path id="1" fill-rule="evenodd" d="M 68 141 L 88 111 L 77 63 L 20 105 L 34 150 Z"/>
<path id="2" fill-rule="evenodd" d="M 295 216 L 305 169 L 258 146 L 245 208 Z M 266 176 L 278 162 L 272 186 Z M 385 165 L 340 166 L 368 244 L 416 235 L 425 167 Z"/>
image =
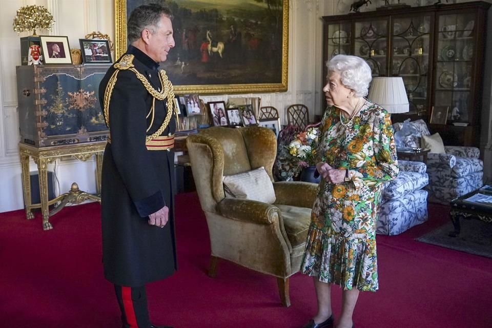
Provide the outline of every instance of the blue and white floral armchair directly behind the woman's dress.
<path id="1" fill-rule="evenodd" d="M 398 235 L 427 221 L 427 191 L 429 181 L 422 162 L 399 160 L 400 173 L 384 183 L 377 222 L 378 234 Z"/>

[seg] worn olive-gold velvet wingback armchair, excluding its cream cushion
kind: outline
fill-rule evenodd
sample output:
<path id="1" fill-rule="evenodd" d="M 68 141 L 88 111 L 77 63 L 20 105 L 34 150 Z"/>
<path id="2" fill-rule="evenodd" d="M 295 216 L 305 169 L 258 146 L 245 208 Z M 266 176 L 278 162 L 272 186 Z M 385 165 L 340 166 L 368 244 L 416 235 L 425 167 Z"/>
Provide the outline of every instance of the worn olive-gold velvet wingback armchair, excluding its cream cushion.
<path id="1" fill-rule="evenodd" d="M 186 141 L 211 243 L 209 276 L 219 258 L 277 277 L 281 302 L 290 306 L 289 277 L 300 270 L 317 186 L 273 182 L 275 134 L 262 127 L 214 127 Z M 264 167 L 273 182 L 273 204 L 226 197 L 222 181 Z"/>

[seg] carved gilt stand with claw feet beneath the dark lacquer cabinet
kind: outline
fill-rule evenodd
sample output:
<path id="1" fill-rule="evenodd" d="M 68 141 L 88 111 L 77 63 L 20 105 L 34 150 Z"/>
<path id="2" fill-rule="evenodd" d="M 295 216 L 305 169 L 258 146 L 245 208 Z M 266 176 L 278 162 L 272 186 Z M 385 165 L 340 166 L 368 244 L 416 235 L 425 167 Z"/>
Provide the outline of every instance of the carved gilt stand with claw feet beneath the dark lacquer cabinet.
<path id="1" fill-rule="evenodd" d="M 83 144 L 72 144 L 54 147 L 37 148 L 31 145 L 19 143 L 20 165 L 22 166 L 22 187 L 24 192 L 24 208 L 26 210 L 26 218 L 33 219 L 32 209 L 41 208 L 43 216 L 43 230 L 53 229 L 49 222 L 51 215 L 59 212 L 67 203 L 80 203 L 87 199 L 97 200 L 100 202 L 101 192 L 101 169 L 103 167 L 103 153 L 106 147 L 104 142 L 85 142 Z M 77 184 L 72 183 L 72 188 L 68 193 L 59 195 L 55 199 L 48 201 L 48 164 L 58 158 L 73 157 L 78 160 L 86 161 L 93 155 L 96 157 L 96 190 L 97 195 L 92 195 L 87 192 L 80 191 Z M 31 203 L 31 181 L 29 177 L 29 158 L 32 157 L 37 164 L 39 174 L 39 196 L 40 203 Z M 60 204 L 49 212 L 49 206 L 60 202 Z"/>

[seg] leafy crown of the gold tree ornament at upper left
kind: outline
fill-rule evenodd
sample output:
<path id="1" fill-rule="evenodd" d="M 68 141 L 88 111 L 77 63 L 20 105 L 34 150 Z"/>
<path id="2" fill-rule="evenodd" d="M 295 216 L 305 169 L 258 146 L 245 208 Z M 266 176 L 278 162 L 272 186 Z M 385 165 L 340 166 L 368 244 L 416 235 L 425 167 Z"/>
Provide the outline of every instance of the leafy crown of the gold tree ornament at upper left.
<path id="1" fill-rule="evenodd" d="M 33 31 L 36 35 L 36 29 L 51 30 L 55 21 L 53 16 L 44 6 L 24 6 L 17 10 L 14 17 L 14 31 L 18 33 Z"/>

